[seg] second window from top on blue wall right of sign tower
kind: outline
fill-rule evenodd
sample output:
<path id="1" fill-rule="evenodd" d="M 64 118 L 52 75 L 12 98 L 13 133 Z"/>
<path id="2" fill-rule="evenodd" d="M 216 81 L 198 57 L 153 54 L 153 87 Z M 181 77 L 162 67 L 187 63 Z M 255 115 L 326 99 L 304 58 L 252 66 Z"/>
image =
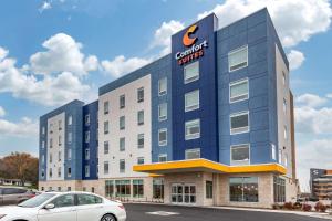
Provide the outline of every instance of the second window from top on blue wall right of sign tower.
<path id="1" fill-rule="evenodd" d="M 248 80 L 240 80 L 229 84 L 229 103 L 248 99 L 249 84 Z"/>

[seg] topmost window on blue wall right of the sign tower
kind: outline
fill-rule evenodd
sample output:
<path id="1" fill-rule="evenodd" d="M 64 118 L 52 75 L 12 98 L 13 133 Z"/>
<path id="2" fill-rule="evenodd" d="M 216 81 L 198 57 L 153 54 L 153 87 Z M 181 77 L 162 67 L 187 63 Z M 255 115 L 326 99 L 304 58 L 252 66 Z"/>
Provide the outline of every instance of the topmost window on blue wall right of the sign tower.
<path id="1" fill-rule="evenodd" d="M 229 72 L 248 66 L 248 46 L 234 50 L 228 53 Z"/>

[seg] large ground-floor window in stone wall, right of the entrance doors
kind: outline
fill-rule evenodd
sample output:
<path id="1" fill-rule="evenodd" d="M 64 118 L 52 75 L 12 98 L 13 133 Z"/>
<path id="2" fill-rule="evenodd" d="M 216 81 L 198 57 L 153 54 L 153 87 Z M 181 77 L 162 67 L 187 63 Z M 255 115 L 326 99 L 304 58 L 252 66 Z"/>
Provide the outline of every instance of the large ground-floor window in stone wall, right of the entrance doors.
<path id="1" fill-rule="evenodd" d="M 229 178 L 229 197 L 235 202 L 258 202 L 258 177 Z"/>

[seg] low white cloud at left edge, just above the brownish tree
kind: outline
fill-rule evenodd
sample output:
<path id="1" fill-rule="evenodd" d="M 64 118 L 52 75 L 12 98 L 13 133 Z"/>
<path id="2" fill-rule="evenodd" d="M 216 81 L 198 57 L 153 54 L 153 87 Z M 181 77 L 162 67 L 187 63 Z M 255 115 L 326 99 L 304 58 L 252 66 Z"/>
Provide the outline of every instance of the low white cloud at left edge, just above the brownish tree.
<path id="1" fill-rule="evenodd" d="M 23 117 L 18 123 L 0 119 L 0 138 L 4 136 L 29 137 L 38 135 L 38 122 Z"/>

